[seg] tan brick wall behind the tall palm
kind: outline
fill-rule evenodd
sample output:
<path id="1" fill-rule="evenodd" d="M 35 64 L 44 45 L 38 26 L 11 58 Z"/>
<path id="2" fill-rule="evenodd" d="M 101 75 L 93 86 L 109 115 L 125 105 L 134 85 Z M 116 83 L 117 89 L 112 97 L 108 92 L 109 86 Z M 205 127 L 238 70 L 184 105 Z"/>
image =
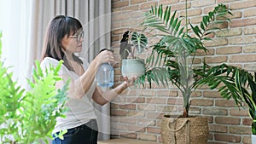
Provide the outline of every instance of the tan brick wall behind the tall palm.
<path id="1" fill-rule="evenodd" d="M 130 28 L 141 28 L 138 24 L 143 13 L 151 5 L 170 4 L 178 14 L 184 15 L 184 0 L 112 0 L 112 49 L 119 58 L 119 40 Z M 238 0 L 188 0 L 189 20 L 196 24 L 201 16 L 212 10 L 217 3 L 232 9 L 229 31 L 219 32 L 212 42 L 207 42 L 209 64 L 229 63 L 248 70 L 256 69 L 256 1 Z M 150 39 L 149 43 L 154 43 Z M 144 57 L 150 51 L 144 53 Z M 123 78 L 119 66 L 115 67 L 115 82 Z M 112 136 L 128 137 L 146 141 L 161 141 L 160 123 L 164 114 L 181 113 L 183 99 L 175 88 L 165 89 L 154 85 L 152 89 L 130 88 L 111 104 Z M 251 120 L 247 109 L 235 108 L 234 101 L 224 100 L 217 90 L 207 87 L 197 90 L 191 97 L 190 114 L 206 116 L 209 120 L 208 143 L 250 143 Z"/>

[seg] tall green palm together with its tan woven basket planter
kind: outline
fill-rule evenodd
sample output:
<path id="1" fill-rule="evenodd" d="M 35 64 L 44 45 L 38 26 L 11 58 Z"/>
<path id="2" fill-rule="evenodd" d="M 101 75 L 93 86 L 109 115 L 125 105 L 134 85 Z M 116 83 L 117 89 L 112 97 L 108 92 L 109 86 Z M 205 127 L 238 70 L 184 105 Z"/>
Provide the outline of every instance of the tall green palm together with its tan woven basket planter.
<path id="1" fill-rule="evenodd" d="M 145 14 L 142 26 L 145 29 L 152 28 L 160 31 L 159 35 L 154 35 L 160 40 L 153 44 L 152 54 L 148 58 L 147 64 L 166 67 L 168 77 L 161 82 L 163 84 L 166 84 L 166 81 L 172 82 L 183 95 L 183 115 L 175 116 L 175 118 L 166 115 L 163 118 L 161 135 L 166 144 L 207 143 L 207 118 L 189 117 L 190 95 L 192 90 L 199 86 L 207 84 L 211 89 L 218 88 L 220 95 L 226 99 L 232 97 L 237 105 L 241 105 L 241 101 L 243 101 L 241 93 L 236 89 L 234 83 L 237 67 L 225 64 L 212 67 L 204 61 L 200 66 L 194 66 L 196 52 L 198 50 L 207 52 L 204 42 L 212 39 L 207 36 L 214 35 L 216 31 L 220 30 L 218 27 L 220 24 L 229 21 L 226 17 L 228 14 L 231 14 L 230 9 L 224 4 L 218 4 L 211 12 L 202 17 L 199 26 L 193 26 L 187 22 L 187 12 L 185 19 L 180 19 L 176 11 L 172 14 L 170 6 L 167 6 L 165 10 L 162 5 L 155 6 Z M 185 20 L 185 26 L 181 25 L 182 20 Z M 232 74 L 230 75 L 230 73 Z M 147 79 L 151 85 L 152 81 L 157 81 L 152 76 L 152 71 L 146 71 L 138 79 L 138 84 L 144 84 Z"/>

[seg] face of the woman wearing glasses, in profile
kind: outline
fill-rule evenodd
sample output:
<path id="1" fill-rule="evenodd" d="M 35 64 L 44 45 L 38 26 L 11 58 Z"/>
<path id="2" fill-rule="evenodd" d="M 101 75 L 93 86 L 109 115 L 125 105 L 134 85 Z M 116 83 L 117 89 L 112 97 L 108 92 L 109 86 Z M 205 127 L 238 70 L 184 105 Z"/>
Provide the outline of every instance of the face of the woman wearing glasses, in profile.
<path id="1" fill-rule="evenodd" d="M 66 53 L 79 53 L 82 50 L 82 43 L 84 41 L 84 32 L 83 30 L 76 32 L 72 36 L 63 37 L 61 39 L 61 48 Z"/>

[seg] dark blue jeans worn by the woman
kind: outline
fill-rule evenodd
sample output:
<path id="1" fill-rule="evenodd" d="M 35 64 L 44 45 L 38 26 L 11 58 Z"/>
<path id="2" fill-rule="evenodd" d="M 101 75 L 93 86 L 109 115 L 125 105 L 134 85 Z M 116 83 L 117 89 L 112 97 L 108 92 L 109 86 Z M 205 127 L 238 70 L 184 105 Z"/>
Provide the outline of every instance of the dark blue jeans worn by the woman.
<path id="1" fill-rule="evenodd" d="M 92 119 L 86 124 L 68 129 L 67 133 L 63 135 L 64 140 L 56 137 L 52 141 L 52 144 L 96 144 L 98 136 L 97 130 L 96 119 Z"/>

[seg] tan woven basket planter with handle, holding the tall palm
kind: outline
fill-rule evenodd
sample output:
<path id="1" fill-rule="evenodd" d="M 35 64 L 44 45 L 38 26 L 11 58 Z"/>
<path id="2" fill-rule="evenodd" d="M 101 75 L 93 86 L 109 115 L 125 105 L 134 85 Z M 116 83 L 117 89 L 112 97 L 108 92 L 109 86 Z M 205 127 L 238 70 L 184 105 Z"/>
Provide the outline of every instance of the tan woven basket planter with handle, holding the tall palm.
<path id="1" fill-rule="evenodd" d="M 177 118 L 166 115 L 160 133 L 164 144 L 207 144 L 207 118 Z"/>

